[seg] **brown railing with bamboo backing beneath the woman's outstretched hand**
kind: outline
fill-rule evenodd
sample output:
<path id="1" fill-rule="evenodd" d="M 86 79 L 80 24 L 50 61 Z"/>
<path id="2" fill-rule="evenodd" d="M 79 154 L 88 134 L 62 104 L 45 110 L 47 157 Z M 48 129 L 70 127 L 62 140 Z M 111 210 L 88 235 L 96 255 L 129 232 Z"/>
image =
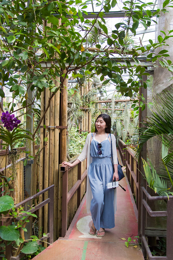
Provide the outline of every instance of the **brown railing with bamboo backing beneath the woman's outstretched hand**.
<path id="1" fill-rule="evenodd" d="M 75 157 L 70 163 L 77 159 Z M 64 237 L 67 227 L 72 221 L 75 211 L 78 209 L 81 198 L 86 192 L 86 160 L 73 167 L 62 166 L 62 230 Z"/>

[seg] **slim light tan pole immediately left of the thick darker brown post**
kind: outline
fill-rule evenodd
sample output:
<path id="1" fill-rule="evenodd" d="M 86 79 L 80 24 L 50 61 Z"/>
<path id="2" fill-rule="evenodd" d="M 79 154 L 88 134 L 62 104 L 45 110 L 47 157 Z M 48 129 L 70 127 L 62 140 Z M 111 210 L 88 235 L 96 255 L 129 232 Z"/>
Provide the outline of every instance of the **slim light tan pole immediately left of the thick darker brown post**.
<path id="1" fill-rule="evenodd" d="M 59 80 L 59 78 L 58 78 Z M 55 94 L 55 126 L 59 125 L 60 91 Z M 58 238 L 59 129 L 54 130 L 54 241 Z"/>

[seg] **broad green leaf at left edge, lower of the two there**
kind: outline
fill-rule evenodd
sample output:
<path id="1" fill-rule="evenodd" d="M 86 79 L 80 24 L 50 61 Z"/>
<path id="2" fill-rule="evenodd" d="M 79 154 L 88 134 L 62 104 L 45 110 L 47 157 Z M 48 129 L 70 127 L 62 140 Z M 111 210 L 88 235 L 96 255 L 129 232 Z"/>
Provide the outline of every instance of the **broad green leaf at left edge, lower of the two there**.
<path id="1" fill-rule="evenodd" d="M 16 241 L 19 238 L 19 231 L 16 229 L 16 225 L 1 226 L 0 237 L 7 241 Z"/>

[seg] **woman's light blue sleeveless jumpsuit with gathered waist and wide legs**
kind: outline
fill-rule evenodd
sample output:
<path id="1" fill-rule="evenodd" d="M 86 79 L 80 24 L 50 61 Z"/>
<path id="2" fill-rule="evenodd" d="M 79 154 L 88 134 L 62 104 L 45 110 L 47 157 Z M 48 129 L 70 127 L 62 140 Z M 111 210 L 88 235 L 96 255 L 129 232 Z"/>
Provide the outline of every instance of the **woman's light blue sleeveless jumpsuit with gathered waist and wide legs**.
<path id="1" fill-rule="evenodd" d="M 93 196 L 90 211 L 97 230 L 115 227 L 114 189 L 107 189 L 106 186 L 112 181 L 114 174 L 108 137 L 106 135 L 106 140 L 101 142 L 101 155 L 97 153 L 98 141 L 93 135 L 90 149 L 92 163 L 89 165 L 88 177 Z"/>

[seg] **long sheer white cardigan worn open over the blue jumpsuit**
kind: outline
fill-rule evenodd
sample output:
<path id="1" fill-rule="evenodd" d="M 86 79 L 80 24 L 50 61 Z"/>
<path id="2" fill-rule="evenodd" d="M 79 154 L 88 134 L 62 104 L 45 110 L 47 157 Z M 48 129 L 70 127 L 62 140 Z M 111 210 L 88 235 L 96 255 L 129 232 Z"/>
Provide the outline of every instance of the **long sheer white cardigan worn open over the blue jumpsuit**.
<path id="1" fill-rule="evenodd" d="M 88 178 L 89 165 L 92 163 L 92 157 L 90 156 L 91 137 L 92 137 L 91 133 L 87 135 L 84 148 L 78 157 L 78 160 L 80 160 L 81 162 L 84 161 L 87 157 L 86 210 L 87 210 L 88 214 L 90 213 L 90 205 L 91 205 L 91 200 L 92 200 L 92 191 L 91 191 L 91 186 L 89 184 L 89 178 Z M 118 164 L 116 139 L 113 134 L 111 134 L 111 138 L 112 138 L 113 161 L 114 161 L 114 164 Z M 114 212 L 115 212 L 115 214 L 116 214 L 116 210 L 117 210 L 117 189 L 115 189 L 115 192 L 114 192 Z"/>

